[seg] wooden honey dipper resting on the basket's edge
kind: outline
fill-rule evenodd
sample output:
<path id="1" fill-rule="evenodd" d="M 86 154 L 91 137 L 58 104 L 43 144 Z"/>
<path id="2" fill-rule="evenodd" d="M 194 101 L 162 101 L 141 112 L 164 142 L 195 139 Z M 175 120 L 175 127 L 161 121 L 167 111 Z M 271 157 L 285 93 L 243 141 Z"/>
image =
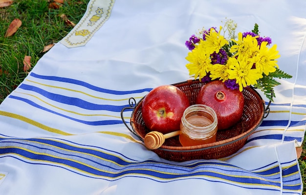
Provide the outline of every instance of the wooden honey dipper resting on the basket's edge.
<path id="1" fill-rule="evenodd" d="M 162 146 L 165 139 L 179 135 L 180 130 L 173 131 L 167 134 L 162 134 L 158 131 L 151 131 L 145 136 L 145 146 L 149 149 L 157 149 Z"/>

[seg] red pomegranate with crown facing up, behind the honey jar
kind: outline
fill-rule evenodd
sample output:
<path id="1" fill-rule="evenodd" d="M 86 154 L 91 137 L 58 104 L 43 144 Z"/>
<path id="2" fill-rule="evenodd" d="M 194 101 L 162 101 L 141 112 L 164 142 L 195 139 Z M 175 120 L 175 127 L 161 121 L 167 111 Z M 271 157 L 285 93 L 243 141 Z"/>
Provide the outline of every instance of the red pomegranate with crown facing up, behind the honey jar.
<path id="1" fill-rule="evenodd" d="M 227 129 L 240 121 L 244 98 L 239 89 L 229 89 L 220 80 L 203 85 L 196 98 L 197 104 L 204 104 L 215 110 L 218 130 Z"/>

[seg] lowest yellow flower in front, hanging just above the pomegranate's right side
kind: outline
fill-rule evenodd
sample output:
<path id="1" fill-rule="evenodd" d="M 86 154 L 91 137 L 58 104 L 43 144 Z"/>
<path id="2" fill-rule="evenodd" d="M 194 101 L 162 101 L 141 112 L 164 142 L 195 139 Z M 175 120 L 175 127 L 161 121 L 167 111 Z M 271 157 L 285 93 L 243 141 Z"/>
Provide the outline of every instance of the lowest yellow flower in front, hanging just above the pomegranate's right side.
<path id="1" fill-rule="evenodd" d="M 262 78 L 262 74 L 256 69 L 252 69 L 253 63 L 247 58 L 237 60 L 230 57 L 227 61 L 229 70 L 229 79 L 236 79 L 239 84 L 239 90 L 242 92 L 243 87 L 257 84 L 257 80 Z"/>

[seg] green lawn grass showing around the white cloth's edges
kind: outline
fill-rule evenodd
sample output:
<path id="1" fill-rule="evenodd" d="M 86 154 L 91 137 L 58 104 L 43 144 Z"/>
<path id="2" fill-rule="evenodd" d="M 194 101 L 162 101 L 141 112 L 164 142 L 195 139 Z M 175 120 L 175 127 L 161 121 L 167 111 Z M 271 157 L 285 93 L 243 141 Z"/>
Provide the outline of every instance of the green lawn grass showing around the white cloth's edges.
<path id="1" fill-rule="evenodd" d="M 60 17 L 77 24 L 84 15 L 89 0 L 66 0 L 59 9 L 49 9 L 47 0 L 15 0 L 12 5 L 0 8 L 0 103 L 24 79 L 23 58 L 32 57 L 34 66 L 44 55 L 44 47 L 59 42 L 72 30 Z M 11 37 L 5 38 L 5 32 L 14 19 L 20 19 L 22 26 Z M 2 72 L 2 73 L 1 73 Z M 306 146 L 304 149 L 306 151 Z M 306 195 L 306 162 L 302 153 L 299 159 L 304 183 L 303 195 Z"/>

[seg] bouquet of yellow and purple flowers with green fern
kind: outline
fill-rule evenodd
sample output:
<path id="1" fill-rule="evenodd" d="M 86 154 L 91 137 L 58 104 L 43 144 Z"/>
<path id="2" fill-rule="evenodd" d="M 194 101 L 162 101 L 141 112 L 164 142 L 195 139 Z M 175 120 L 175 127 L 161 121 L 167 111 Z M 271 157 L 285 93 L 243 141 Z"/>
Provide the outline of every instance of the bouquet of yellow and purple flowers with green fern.
<path id="1" fill-rule="evenodd" d="M 273 87 L 281 84 L 275 78 L 292 76 L 279 69 L 277 45 L 272 45 L 270 37 L 260 36 L 258 27 L 255 24 L 252 31 L 239 32 L 236 37 L 237 24 L 227 20 L 219 30 L 211 27 L 192 35 L 185 43 L 191 50 L 186 57 L 189 74 L 203 83 L 222 80 L 228 88 L 240 92 L 253 86 L 273 101 Z M 228 38 L 224 37 L 226 32 Z"/>

